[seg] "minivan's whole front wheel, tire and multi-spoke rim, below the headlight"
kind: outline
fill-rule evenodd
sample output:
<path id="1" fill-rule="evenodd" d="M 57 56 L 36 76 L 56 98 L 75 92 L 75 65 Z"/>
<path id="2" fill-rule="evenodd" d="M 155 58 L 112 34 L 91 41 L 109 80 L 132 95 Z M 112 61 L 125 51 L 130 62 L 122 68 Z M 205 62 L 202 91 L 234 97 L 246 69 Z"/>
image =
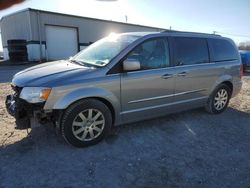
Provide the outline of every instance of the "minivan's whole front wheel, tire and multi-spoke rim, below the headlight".
<path id="1" fill-rule="evenodd" d="M 61 122 L 64 139 L 73 146 L 85 147 L 98 143 L 108 134 L 112 116 L 101 101 L 85 99 L 70 106 Z"/>

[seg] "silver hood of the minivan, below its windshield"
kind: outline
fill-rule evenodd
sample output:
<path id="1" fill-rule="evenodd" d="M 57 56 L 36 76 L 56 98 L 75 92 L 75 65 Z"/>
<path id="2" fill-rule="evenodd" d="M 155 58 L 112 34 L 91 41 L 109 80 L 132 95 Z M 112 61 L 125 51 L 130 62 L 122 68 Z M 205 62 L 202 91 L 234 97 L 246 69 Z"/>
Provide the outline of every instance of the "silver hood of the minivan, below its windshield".
<path id="1" fill-rule="evenodd" d="M 36 65 L 14 75 L 12 83 L 19 87 L 52 87 L 56 83 L 76 79 L 93 72 L 96 68 L 72 63 L 68 60 L 54 61 Z M 65 82 L 64 82 L 65 83 Z"/>

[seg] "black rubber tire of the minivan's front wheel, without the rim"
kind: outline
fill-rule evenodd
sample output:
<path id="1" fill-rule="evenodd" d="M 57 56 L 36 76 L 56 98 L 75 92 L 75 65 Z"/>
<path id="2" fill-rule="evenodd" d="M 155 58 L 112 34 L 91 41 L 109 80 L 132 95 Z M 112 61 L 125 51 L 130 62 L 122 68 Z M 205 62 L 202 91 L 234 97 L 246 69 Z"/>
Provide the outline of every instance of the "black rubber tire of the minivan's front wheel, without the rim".
<path id="1" fill-rule="evenodd" d="M 87 111 L 89 109 L 93 109 L 93 110 L 97 110 L 101 112 L 101 114 L 103 115 L 102 116 L 103 121 L 105 122 L 103 125 L 104 128 L 102 129 L 102 132 L 100 133 L 100 135 L 97 136 L 96 138 L 93 138 L 92 140 L 89 140 L 89 141 L 80 140 L 73 133 L 73 129 L 74 129 L 73 122 L 75 121 L 75 119 L 81 112 Z M 76 147 L 86 147 L 86 146 L 97 144 L 105 136 L 108 135 L 108 133 L 110 132 L 111 126 L 112 126 L 112 116 L 111 116 L 111 112 L 109 108 L 104 103 L 96 99 L 84 99 L 71 105 L 69 108 L 66 109 L 61 119 L 62 136 L 69 144 L 76 146 Z M 88 126 L 84 125 L 84 127 L 88 127 Z M 86 130 L 84 130 L 84 132 L 85 131 Z M 82 134 L 84 134 L 84 132 Z M 92 129 L 92 132 L 93 132 L 93 129 Z"/>

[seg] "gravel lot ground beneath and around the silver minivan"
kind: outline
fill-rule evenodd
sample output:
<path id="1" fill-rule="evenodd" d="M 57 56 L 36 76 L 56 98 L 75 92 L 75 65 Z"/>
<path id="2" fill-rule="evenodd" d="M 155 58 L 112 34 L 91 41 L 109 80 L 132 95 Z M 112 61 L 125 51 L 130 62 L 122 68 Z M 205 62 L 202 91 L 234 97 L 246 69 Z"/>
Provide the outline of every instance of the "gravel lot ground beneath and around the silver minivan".
<path id="1" fill-rule="evenodd" d="M 77 149 L 49 125 L 14 130 L 0 83 L 0 187 L 250 187 L 250 74 L 221 115 L 203 109 L 115 128 Z"/>

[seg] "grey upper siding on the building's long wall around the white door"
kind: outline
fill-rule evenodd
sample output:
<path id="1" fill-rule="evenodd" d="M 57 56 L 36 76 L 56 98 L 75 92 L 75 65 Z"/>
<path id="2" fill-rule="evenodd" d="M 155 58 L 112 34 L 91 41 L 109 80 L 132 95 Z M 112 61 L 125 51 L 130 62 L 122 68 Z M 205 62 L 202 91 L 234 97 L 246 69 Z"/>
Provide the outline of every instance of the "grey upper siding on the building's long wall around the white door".
<path id="1" fill-rule="evenodd" d="M 31 28 L 33 33 L 32 40 L 39 40 L 38 36 L 38 11 L 31 11 Z M 66 27 L 76 27 L 79 32 L 79 42 L 88 43 L 108 35 L 110 32 L 132 32 L 132 31 L 159 31 L 157 28 L 114 23 L 96 19 L 61 15 L 48 12 L 40 12 L 41 38 L 45 41 L 45 26 L 57 25 Z"/>

